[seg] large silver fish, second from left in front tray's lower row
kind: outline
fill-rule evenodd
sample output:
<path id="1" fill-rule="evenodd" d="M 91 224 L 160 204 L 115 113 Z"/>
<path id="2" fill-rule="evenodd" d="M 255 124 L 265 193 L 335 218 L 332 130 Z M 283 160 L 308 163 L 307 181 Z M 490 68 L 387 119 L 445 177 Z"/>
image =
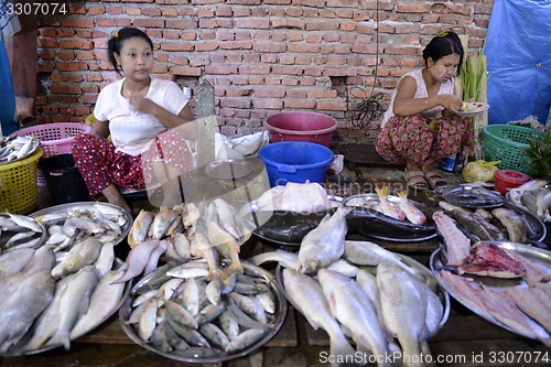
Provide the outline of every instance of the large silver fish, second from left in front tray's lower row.
<path id="1" fill-rule="evenodd" d="M 346 326 L 353 338 L 363 348 L 376 356 L 389 353 L 386 332 L 379 324 L 375 305 L 359 284 L 350 278 L 327 269 L 320 269 L 317 278 L 322 285 L 331 314 Z M 377 358 L 377 366 L 390 366 L 385 358 Z"/>

